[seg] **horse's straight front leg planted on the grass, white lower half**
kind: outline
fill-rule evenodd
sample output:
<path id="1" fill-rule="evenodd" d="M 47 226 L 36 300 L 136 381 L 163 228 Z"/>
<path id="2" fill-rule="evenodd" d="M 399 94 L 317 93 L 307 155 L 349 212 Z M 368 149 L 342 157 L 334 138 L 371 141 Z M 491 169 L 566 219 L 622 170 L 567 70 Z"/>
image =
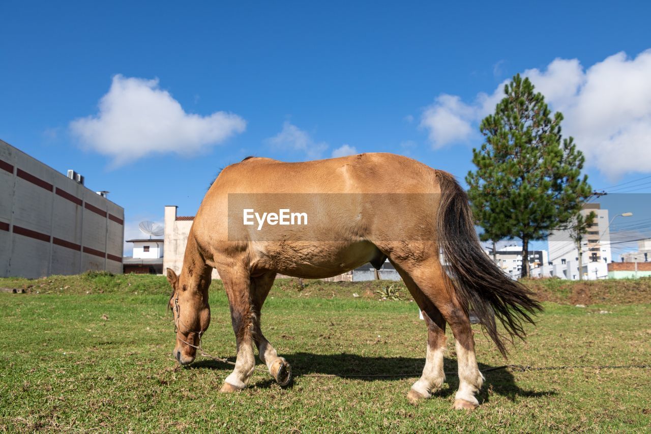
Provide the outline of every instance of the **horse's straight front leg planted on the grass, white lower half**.
<path id="1" fill-rule="evenodd" d="M 248 272 L 236 270 L 221 277 L 229 297 L 230 321 L 235 332 L 237 348 L 235 369 L 224 380 L 221 392 L 236 392 L 245 388 L 255 369 L 253 333 L 256 314 L 251 301 L 251 280 Z"/>

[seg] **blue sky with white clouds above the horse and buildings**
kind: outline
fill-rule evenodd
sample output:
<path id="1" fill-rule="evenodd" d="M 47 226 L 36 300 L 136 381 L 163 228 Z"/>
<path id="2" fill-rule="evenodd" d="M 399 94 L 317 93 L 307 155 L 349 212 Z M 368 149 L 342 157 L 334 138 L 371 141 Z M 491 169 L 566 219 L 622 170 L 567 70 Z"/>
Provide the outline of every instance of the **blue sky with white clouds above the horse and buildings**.
<path id="1" fill-rule="evenodd" d="M 0 138 L 109 190 L 128 238 L 164 205 L 194 214 L 249 154 L 396 152 L 463 179 L 520 72 L 566 115 L 595 188 L 642 179 L 651 7 L 568 3 L 6 1 Z"/>

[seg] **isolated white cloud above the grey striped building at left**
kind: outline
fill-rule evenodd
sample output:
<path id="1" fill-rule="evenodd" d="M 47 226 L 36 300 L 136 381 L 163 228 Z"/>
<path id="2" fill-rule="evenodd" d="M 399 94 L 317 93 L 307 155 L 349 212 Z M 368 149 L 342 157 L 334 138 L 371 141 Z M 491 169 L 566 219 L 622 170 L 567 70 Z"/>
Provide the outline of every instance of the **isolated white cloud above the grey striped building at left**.
<path id="1" fill-rule="evenodd" d="M 232 113 L 186 113 L 158 80 L 121 75 L 113 77 L 96 115 L 70 123 L 82 145 L 113 158 L 113 166 L 153 153 L 197 154 L 245 128 L 246 122 Z"/>

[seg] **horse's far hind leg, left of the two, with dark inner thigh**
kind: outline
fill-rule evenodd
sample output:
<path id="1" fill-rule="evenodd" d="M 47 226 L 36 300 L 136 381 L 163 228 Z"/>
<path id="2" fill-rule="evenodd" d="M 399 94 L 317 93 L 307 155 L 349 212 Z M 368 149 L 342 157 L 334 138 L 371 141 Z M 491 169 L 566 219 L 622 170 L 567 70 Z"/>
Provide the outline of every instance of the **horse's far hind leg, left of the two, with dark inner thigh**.
<path id="1" fill-rule="evenodd" d="M 443 353 L 445 352 L 445 319 L 434 303 L 426 297 L 421 289 L 409 277 L 409 274 L 396 265 L 396 270 L 402 276 L 422 312 L 422 317 L 427 325 L 427 355 L 421 378 L 412 384 L 407 398 L 415 402 L 422 398 L 430 398 L 443 386 L 445 372 L 443 371 Z"/>

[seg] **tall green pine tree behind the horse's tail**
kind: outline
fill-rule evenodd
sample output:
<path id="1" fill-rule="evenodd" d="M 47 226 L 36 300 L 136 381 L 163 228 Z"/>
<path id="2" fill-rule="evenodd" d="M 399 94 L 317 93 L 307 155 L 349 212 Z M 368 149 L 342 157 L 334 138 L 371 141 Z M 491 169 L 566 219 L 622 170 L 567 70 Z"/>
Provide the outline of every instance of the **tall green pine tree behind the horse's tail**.
<path id="1" fill-rule="evenodd" d="M 529 276 L 529 242 L 570 224 L 592 189 L 581 176 L 585 158 L 561 137 L 562 114 L 551 113 L 528 78 L 514 76 L 505 98 L 480 125 L 476 171 L 466 182 L 475 220 L 486 240 L 522 240 L 522 274 Z"/>

